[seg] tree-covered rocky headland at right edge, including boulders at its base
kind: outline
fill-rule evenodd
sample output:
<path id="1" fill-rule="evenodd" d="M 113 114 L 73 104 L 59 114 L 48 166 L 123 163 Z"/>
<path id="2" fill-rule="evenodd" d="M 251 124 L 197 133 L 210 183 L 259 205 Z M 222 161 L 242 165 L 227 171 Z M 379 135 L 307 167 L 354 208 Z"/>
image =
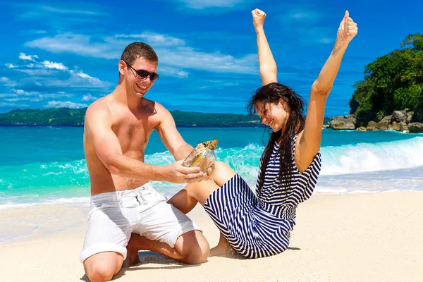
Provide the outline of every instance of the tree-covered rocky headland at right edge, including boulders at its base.
<path id="1" fill-rule="evenodd" d="M 408 35 L 400 47 L 365 66 L 350 115 L 333 117 L 329 128 L 423 133 L 423 35 Z"/>

